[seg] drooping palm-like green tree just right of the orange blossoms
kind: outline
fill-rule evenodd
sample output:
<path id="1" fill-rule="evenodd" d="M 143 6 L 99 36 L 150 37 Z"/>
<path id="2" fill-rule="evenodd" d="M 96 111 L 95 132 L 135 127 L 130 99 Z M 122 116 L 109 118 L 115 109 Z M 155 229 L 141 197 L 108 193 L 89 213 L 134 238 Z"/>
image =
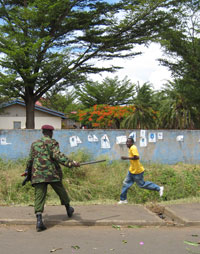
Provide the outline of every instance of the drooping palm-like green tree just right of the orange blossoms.
<path id="1" fill-rule="evenodd" d="M 136 96 L 133 98 L 135 112 L 122 122 L 121 127 L 127 129 L 153 129 L 157 127 L 157 102 L 151 84 L 136 86 Z"/>

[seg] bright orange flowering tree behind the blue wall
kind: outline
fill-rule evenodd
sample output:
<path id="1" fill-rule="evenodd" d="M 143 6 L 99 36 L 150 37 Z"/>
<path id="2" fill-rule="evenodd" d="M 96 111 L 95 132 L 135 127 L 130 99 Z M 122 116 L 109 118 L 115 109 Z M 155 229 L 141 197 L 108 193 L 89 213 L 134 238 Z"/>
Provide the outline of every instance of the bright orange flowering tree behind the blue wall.
<path id="1" fill-rule="evenodd" d="M 79 110 L 78 120 L 88 128 L 120 128 L 120 123 L 134 114 L 135 107 L 94 105 L 85 110 Z"/>

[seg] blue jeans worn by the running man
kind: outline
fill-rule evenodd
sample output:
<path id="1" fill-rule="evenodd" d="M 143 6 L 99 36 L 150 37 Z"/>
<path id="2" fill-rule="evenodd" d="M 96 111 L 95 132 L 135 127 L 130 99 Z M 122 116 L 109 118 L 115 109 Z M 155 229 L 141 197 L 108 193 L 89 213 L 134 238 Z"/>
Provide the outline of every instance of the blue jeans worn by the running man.
<path id="1" fill-rule="evenodd" d="M 160 190 L 160 186 L 158 186 L 155 183 L 149 182 L 149 181 L 144 181 L 143 176 L 144 172 L 140 173 L 140 174 L 131 174 L 128 171 L 128 174 L 123 182 L 123 186 L 122 186 L 122 191 L 121 191 L 121 195 L 120 195 L 120 200 L 126 200 L 127 199 L 127 191 L 128 189 L 134 184 L 134 182 L 136 182 L 136 184 L 143 189 L 147 189 L 147 190 L 155 190 L 155 191 L 159 191 Z"/>

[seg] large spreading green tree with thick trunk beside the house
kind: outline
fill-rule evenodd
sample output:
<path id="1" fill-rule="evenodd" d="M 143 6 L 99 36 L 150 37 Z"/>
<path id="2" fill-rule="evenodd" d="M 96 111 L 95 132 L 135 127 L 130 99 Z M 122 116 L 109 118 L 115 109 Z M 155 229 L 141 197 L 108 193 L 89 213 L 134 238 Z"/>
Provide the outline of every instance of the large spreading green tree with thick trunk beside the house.
<path id="1" fill-rule="evenodd" d="M 24 100 L 26 128 L 34 128 L 35 102 L 47 91 L 117 67 L 98 68 L 92 59 L 139 54 L 130 50 L 176 22 L 173 4 L 177 1 L 1 0 L 0 86 L 5 95 Z"/>

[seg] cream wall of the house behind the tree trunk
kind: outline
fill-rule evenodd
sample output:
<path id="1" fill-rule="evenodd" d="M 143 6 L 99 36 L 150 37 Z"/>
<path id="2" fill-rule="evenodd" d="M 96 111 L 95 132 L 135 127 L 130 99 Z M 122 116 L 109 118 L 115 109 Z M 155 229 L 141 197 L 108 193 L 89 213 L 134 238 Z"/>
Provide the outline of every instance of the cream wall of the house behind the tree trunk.
<path id="1" fill-rule="evenodd" d="M 0 129 L 13 129 L 14 122 L 21 122 L 21 128 L 25 128 L 26 110 L 24 106 L 12 105 L 1 112 Z M 62 119 L 58 116 L 35 110 L 35 129 L 41 129 L 41 126 L 46 123 L 53 125 L 55 129 L 61 129 Z"/>

